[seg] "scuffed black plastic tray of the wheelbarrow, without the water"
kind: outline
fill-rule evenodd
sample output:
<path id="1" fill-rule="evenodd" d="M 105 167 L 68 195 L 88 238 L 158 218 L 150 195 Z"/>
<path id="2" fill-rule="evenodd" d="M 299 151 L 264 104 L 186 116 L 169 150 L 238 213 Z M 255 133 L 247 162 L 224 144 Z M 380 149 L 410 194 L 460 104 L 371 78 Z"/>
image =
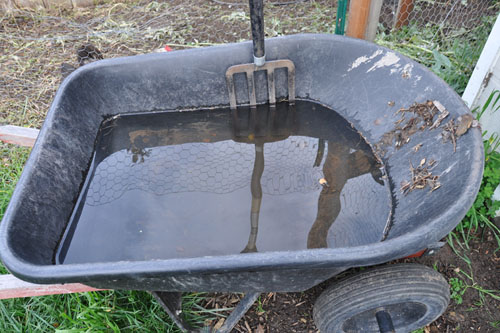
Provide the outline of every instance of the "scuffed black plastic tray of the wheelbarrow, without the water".
<path id="1" fill-rule="evenodd" d="M 295 35 L 266 43 L 268 60 L 290 59 L 295 64 L 297 99 L 336 110 L 371 144 L 394 128 L 397 107 L 439 101 L 450 113 L 447 120 L 469 112 L 429 70 L 375 44 L 334 35 Z M 252 44 L 239 43 L 104 60 L 71 74 L 57 92 L 1 224 L 0 252 L 8 269 L 35 283 L 244 292 L 251 296 L 247 299 L 251 304 L 255 293 L 306 290 L 351 267 L 377 265 L 433 248 L 464 217 L 481 182 L 481 132 L 470 129 L 454 152 L 451 143 L 443 144 L 441 131 L 423 131 L 412 138 L 422 143 L 417 153 L 414 145 L 406 144 L 390 148 L 384 156 L 396 203 L 384 241 L 361 239 L 362 245 L 352 247 L 194 259 L 55 265 L 54 252 L 78 197 L 101 121 L 116 114 L 228 106 L 224 74 L 232 65 L 251 63 L 251 57 Z M 285 80 L 276 78 L 277 97 L 287 95 Z M 264 103 L 266 85 L 256 86 L 262 90 L 257 91 L 258 102 Z M 246 86 L 237 86 L 236 93 L 240 102 L 248 103 Z M 399 188 L 409 177 L 408 161 L 418 156 L 439 161 L 434 172 L 440 175 L 441 187 L 432 193 L 426 189 L 403 195 Z M 176 302 L 163 304 L 175 315 Z M 424 310 L 410 306 L 408 311 L 417 310 L 426 312 L 425 306 Z"/>

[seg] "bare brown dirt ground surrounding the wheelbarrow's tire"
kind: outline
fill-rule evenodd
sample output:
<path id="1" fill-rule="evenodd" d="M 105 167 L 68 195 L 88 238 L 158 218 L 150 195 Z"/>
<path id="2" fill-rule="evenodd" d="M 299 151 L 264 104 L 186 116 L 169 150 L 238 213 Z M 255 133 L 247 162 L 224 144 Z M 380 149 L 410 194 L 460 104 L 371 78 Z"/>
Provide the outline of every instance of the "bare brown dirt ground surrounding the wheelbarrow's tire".
<path id="1" fill-rule="evenodd" d="M 458 291 L 464 291 L 461 304 L 451 299 L 446 312 L 425 327 L 422 333 L 500 331 L 500 300 L 474 288 L 500 290 L 500 251 L 495 253 L 496 240 L 489 231 L 485 230 L 483 234 L 480 230 L 477 239 L 469 246 L 470 250 L 463 251 L 454 243 L 457 251 L 462 250 L 460 255 L 470 259 L 470 266 L 448 244 L 434 255 L 388 263 L 420 263 L 436 269 L 448 281 L 458 278 L 468 286 Z M 342 273 L 342 276 L 353 273 L 354 269 Z M 314 301 L 323 290 L 341 278 L 334 277 L 302 293 L 263 294 L 233 332 L 319 332 L 312 319 Z M 223 308 L 236 303 L 234 294 L 215 294 L 212 298 L 209 298 L 208 308 Z"/>

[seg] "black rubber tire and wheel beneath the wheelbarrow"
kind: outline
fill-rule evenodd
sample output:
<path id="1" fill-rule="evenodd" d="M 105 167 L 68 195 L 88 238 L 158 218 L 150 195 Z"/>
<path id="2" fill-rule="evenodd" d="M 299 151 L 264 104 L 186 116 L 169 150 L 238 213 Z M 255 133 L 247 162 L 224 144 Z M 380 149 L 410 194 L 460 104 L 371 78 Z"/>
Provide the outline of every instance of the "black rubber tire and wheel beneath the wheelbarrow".
<path id="1" fill-rule="evenodd" d="M 411 332 L 436 320 L 448 307 L 446 280 L 418 264 L 376 267 L 326 289 L 314 304 L 321 333 L 380 332 L 375 313 L 384 308 L 396 332 Z"/>

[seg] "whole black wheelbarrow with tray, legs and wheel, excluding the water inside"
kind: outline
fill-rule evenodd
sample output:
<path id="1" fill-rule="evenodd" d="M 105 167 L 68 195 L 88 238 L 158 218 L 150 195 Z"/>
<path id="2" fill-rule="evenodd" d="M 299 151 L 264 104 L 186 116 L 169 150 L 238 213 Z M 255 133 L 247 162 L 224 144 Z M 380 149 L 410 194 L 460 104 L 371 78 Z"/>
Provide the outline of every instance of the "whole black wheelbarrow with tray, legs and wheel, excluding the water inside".
<path id="1" fill-rule="evenodd" d="M 367 220 L 363 228 L 351 229 L 344 243 L 333 247 L 325 247 L 324 239 L 317 236 L 332 226 L 318 223 L 310 233 L 311 246 L 303 249 L 259 252 L 252 240 L 259 236 L 251 235 L 247 247 L 242 244 L 240 249 L 247 249 L 245 253 L 58 262 L 61 240 L 96 156 L 94 147 L 103 120 L 161 110 L 183 110 L 176 113 L 182 119 L 195 115 L 196 110 L 222 106 L 227 107 L 226 115 L 221 115 L 227 121 L 212 122 L 224 125 L 212 129 L 217 136 L 235 137 L 229 126 L 225 73 L 233 65 L 254 61 L 252 43 L 140 55 L 89 64 L 62 83 L 0 226 L 0 254 L 8 269 L 23 280 L 40 284 L 79 282 L 96 288 L 151 291 L 183 330 L 190 328 L 179 316 L 181 292 L 245 293 L 219 329 L 227 332 L 260 293 L 304 291 L 349 268 L 380 265 L 438 248 L 472 205 L 482 177 L 479 129 L 471 128 L 454 141 L 456 151 L 450 143 L 443 143 L 440 128 L 470 114 L 460 97 L 416 62 L 362 40 L 321 34 L 272 38 L 266 41 L 266 58 L 293 62 L 297 103 L 309 101 L 335 110 L 368 147 L 382 147 L 380 161 L 359 173 L 374 171 L 370 177 L 389 186 L 389 219 Z M 243 84 L 238 78 L 234 84 L 238 104 L 251 104 L 248 86 L 240 79 Z M 267 80 L 259 76 L 255 80 L 256 104 L 266 104 Z M 287 80 L 286 73 L 276 73 L 276 100 L 290 98 Z M 394 144 L 391 133 L 395 133 L 398 111 L 428 101 L 446 108 L 448 116 L 442 125 L 412 131 L 404 144 Z M 306 114 L 301 116 L 307 120 Z M 287 131 L 278 136 L 297 134 L 298 129 L 291 126 Z M 149 146 L 128 148 L 140 162 L 147 159 L 149 147 L 166 144 L 160 136 Z M 328 155 L 319 146 L 318 141 L 316 154 Z M 119 148 L 123 147 L 110 148 L 109 153 Z M 342 156 L 349 158 L 351 153 L 356 152 L 347 150 Z M 424 159 L 437 161 L 432 172 L 439 175 L 440 187 L 401 191 L 401 184 L 411 176 L 410 165 L 417 167 Z M 327 174 L 326 169 L 334 164 L 325 166 L 327 156 L 321 160 L 319 167 Z M 378 162 L 385 174 L 377 174 L 374 166 Z M 256 159 L 255 166 L 259 163 Z M 252 198 L 256 201 L 258 197 L 256 191 Z M 334 200 L 329 193 L 323 197 Z M 329 214 L 331 220 L 335 212 Z M 255 218 L 250 222 L 253 227 Z M 365 228 L 377 232 L 364 233 Z M 448 300 L 446 281 L 432 269 L 379 266 L 328 288 L 316 301 L 314 319 L 322 332 L 408 332 L 436 319 Z"/>

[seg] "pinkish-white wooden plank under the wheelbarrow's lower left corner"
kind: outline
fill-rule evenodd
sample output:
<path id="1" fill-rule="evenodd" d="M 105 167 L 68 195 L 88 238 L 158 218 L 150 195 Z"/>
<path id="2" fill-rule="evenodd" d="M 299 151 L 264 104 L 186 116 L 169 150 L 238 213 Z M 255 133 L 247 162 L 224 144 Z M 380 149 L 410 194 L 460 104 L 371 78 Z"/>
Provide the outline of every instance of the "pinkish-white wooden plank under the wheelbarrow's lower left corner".
<path id="1" fill-rule="evenodd" d="M 34 284 L 19 280 L 14 275 L 0 275 L 0 299 L 71 294 L 100 290 L 105 289 L 96 289 L 80 283 Z"/>

